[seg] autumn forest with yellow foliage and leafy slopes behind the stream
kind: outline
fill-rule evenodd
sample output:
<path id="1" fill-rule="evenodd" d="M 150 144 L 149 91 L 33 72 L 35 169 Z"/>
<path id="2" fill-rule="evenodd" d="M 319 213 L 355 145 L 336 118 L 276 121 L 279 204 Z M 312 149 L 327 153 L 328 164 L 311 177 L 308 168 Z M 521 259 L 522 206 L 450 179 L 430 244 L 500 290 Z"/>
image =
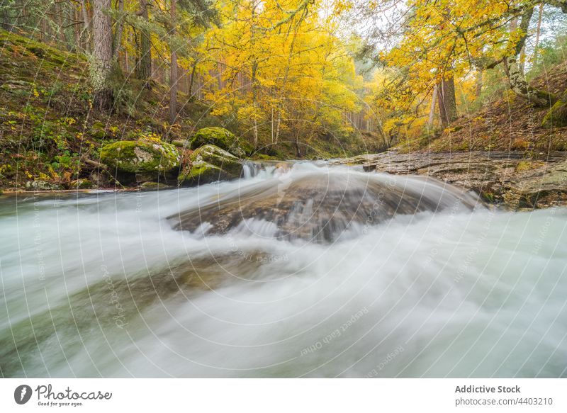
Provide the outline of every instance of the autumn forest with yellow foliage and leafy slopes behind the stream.
<path id="1" fill-rule="evenodd" d="M 561 150 L 563 135 L 539 132 L 551 108 L 567 122 L 566 11 L 561 0 L 4 0 L 0 179 L 76 181 L 104 164 L 105 144 L 183 147 L 209 127 L 264 159 Z M 503 99 L 541 113 L 535 137 L 477 132 L 481 111 L 507 115 Z"/>

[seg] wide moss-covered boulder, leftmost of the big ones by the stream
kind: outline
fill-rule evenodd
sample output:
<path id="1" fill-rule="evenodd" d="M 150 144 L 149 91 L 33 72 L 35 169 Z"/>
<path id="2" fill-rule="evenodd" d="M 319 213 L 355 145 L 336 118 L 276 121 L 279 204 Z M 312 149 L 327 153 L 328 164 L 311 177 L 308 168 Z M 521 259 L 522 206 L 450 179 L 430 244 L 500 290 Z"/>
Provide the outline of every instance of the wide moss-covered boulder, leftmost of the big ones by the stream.
<path id="1" fill-rule="evenodd" d="M 121 140 L 101 149 L 101 162 L 110 171 L 135 174 L 137 181 L 167 176 L 179 167 L 181 153 L 169 143 L 154 140 Z"/>

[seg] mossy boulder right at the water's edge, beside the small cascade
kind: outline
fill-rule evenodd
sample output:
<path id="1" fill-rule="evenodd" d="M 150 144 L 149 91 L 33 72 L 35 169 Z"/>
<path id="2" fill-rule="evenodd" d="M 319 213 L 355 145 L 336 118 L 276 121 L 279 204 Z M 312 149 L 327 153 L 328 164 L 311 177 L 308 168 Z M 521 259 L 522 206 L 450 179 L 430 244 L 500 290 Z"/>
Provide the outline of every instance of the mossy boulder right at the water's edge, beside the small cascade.
<path id="1" fill-rule="evenodd" d="M 237 157 L 215 145 L 196 149 L 189 161 L 177 179 L 181 186 L 237 179 L 242 174 L 242 164 Z"/>

